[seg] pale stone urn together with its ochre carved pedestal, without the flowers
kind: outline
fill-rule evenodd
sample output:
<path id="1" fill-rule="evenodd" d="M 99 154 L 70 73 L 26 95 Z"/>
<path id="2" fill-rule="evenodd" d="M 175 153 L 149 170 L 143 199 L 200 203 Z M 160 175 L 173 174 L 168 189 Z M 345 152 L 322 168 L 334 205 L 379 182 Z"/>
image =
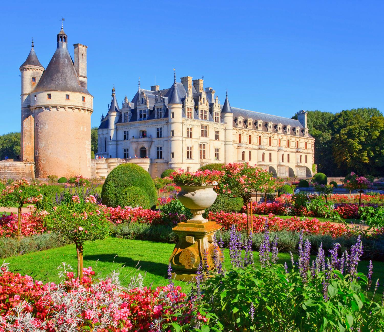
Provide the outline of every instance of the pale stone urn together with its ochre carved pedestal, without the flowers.
<path id="1" fill-rule="evenodd" d="M 203 218 L 205 209 L 216 200 L 215 185 L 217 182 L 201 186 L 180 185 L 181 191 L 177 196 L 191 210 L 193 217 L 187 222 L 179 222 L 173 228 L 179 236 L 179 242 L 175 245 L 169 262 L 173 271 L 172 278 L 176 280 L 194 281 L 200 262 L 204 263 L 204 257 L 207 257 L 208 271 L 215 267 L 214 235 L 221 226 Z M 221 257 L 220 249 L 217 248 L 217 251 L 218 257 Z"/>

